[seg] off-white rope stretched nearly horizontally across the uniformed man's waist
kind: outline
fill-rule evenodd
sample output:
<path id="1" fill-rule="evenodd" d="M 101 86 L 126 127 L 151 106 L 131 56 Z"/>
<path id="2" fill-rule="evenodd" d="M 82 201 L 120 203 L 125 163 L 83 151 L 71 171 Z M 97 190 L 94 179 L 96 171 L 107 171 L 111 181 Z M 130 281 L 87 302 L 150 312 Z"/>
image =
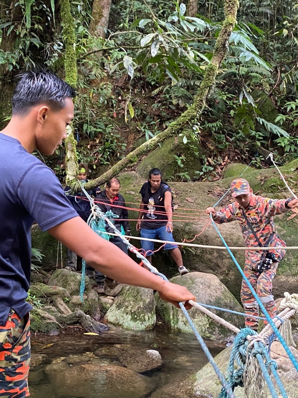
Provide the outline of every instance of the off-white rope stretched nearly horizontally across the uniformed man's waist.
<path id="1" fill-rule="evenodd" d="M 111 235 L 111 236 L 118 236 L 117 234 L 113 234 L 112 232 L 103 232 L 104 234 Z M 136 239 L 136 240 L 148 240 L 150 242 L 157 242 L 157 243 L 169 243 L 172 245 L 177 246 L 190 246 L 195 248 L 202 248 L 202 249 L 219 249 L 219 250 L 226 250 L 225 246 L 211 246 L 211 245 L 199 245 L 196 243 L 184 243 L 184 242 L 173 242 L 170 240 L 159 240 L 159 239 L 150 239 L 150 238 L 141 238 L 139 236 L 130 236 L 130 235 L 122 235 L 124 238 L 127 239 Z M 271 246 L 271 247 L 259 247 L 259 246 L 230 246 L 231 250 L 298 250 L 298 246 Z"/>

